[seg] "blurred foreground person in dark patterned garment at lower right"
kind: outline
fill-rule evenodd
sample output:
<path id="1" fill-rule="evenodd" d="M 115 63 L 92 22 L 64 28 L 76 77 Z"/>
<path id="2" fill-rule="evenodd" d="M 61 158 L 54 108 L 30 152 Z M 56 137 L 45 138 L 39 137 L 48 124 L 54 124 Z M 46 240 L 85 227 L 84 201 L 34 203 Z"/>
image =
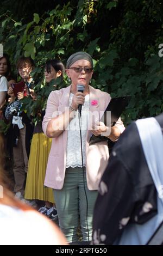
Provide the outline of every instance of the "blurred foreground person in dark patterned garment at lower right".
<path id="1" fill-rule="evenodd" d="M 162 129 L 163 114 L 139 119 L 114 146 L 99 184 L 94 245 L 146 245 L 163 221 Z"/>

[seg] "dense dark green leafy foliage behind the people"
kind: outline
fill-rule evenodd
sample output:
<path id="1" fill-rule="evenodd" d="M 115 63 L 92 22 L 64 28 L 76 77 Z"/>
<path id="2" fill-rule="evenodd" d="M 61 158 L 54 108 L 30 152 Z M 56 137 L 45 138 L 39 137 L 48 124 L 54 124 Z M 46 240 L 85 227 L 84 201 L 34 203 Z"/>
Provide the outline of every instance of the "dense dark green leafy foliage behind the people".
<path id="1" fill-rule="evenodd" d="M 123 114 L 126 124 L 161 113 L 162 13 L 163 3 L 158 0 L 2 0 L 0 43 L 15 74 L 20 56 L 31 56 L 36 63 L 38 97 L 26 102 L 26 108 L 44 108 L 54 89 L 44 87 L 47 59 L 60 58 L 66 64 L 73 52 L 86 51 L 95 64 L 92 86 L 111 96 L 131 95 Z M 65 76 L 59 87 L 67 84 Z"/>

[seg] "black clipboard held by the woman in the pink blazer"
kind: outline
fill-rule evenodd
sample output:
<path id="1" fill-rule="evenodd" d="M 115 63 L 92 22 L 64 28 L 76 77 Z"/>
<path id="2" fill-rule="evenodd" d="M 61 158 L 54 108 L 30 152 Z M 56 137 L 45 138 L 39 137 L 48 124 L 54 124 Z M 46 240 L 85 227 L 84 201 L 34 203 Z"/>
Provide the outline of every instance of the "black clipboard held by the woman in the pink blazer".
<path id="1" fill-rule="evenodd" d="M 101 120 L 104 122 L 105 125 L 106 125 L 107 111 L 111 112 L 111 126 L 114 126 L 116 121 L 120 118 L 122 112 L 128 105 L 130 98 L 131 96 L 122 96 L 122 97 L 114 97 L 110 100 L 109 105 L 108 107 L 106 107 L 104 115 L 101 118 Z M 112 142 L 109 138 L 101 135 L 99 136 L 92 135 L 90 138 L 89 144 L 92 145 L 101 141 L 109 141 L 110 147 L 112 147 L 112 145 L 114 144 L 114 142 Z M 108 143 L 108 146 L 109 146 L 109 143 Z"/>

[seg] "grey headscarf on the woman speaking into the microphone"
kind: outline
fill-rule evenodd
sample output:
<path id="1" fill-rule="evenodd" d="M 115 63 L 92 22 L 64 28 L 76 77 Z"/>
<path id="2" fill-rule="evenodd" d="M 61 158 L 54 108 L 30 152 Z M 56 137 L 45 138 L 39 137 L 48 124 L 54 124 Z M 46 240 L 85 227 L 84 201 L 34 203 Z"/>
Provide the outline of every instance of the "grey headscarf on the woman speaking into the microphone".
<path id="1" fill-rule="evenodd" d="M 73 53 L 68 59 L 66 63 L 66 69 L 70 68 L 70 66 L 74 63 L 77 62 L 79 59 L 86 59 L 91 63 L 91 66 L 93 68 L 93 60 L 92 57 L 90 56 L 89 53 L 87 52 L 76 52 Z"/>

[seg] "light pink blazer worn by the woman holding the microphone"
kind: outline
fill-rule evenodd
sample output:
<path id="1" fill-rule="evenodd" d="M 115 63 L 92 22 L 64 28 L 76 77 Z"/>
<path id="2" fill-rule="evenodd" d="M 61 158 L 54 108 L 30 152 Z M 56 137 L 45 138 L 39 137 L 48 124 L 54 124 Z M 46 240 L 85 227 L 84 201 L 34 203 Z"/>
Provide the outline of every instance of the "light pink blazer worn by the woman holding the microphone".
<path id="1" fill-rule="evenodd" d="M 90 102 L 96 100 L 97 105 L 90 104 L 90 111 L 105 111 L 111 99 L 110 94 L 102 92 L 89 86 Z M 43 118 L 42 129 L 46 135 L 48 122 L 54 117 L 54 112 L 64 112 L 65 106 L 68 107 L 71 86 L 55 90 L 51 92 L 47 101 L 46 114 Z M 119 119 L 116 126 L 121 132 L 124 130 L 124 125 Z M 68 131 L 63 131 L 57 138 L 52 139 L 52 147 L 48 157 L 45 186 L 60 190 L 64 184 L 66 170 L 66 147 L 67 147 Z M 108 164 L 109 152 L 106 141 L 89 145 L 91 131 L 87 131 L 86 136 L 86 178 L 87 187 L 89 190 L 97 190 L 101 176 Z"/>

